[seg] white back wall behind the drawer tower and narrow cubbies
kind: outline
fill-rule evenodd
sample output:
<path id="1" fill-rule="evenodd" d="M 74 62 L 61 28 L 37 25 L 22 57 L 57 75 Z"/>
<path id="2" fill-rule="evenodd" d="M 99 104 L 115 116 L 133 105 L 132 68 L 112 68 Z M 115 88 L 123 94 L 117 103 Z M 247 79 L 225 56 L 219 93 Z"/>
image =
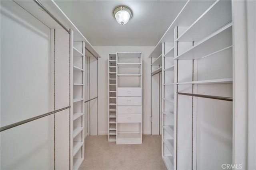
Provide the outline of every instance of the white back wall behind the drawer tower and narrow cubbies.
<path id="1" fill-rule="evenodd" d="M 141 51 L 143 56 L 143 134 L 150 134 L 151 123 L 151 60 L 148 58 L 154 47 L 140 46 L 95 46 L 100 55 L 99 59 L 99 135 L 108 134 L 108 54 L 116 52 L 136 52 Z"/>

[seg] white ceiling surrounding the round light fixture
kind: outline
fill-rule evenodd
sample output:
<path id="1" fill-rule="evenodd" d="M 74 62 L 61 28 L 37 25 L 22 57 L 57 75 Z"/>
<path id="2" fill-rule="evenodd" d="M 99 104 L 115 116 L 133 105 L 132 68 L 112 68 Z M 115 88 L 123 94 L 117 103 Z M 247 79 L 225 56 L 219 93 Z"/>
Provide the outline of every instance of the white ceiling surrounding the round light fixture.
<path id="1" fill-rule="evenodd" d="M 155 46 L 180 12 L 185 0 L 55 0 L 93 46 Z M 116 6 L 132 9 L 131 20 L 120 25 Z"/>

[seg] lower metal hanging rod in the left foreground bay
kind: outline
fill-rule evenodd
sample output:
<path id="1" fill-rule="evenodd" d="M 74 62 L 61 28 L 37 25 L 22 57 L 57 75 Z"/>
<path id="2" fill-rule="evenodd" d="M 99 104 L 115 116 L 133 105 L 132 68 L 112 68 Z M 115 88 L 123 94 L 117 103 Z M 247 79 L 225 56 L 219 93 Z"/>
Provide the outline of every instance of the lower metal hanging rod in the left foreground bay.
<path id="1" fill-rule="evenodd" d="M 0 132 L 5 131 L 5 130 L 7 130 L 7 129 L 11 129 L 11 128 L 16 127 L 16 126 L 19 126 L 19 125 L 22 125 L 22 124 L 24 124 L 24 123 L 28 123 L 28 122 L 30 122 L 30 121 L 34 121 L 34 120 L 36 120 L 36 119 L 40 119 L 40 118 L 42 118 L 42 117 L 51 115 L 51 114 L 53 114 L 53 113 L 57 113 L 57 112 L 59 112 L 59 111 L 62 111 L 62 110 L 68 109 L 68 108 L 70 108 L 70 106 L 63 107 L 62 109 L 58 109 L 58 110 L 55 110 L 55 111 L 50 111 L 50 112 L 48 112 L 48 113 L 44 113 L 44 114 L 42 114 L 42 115 L 38 115 L 38 116 L 29 118 L 29 119 L 26 119 L 26 120 L 23 120 L 23 121 L 19 121 L 19 122 L 16 122 L 16 123 L 12 123 L 12 124 L 10 124 L 10 125 L 1 127 Z"/>

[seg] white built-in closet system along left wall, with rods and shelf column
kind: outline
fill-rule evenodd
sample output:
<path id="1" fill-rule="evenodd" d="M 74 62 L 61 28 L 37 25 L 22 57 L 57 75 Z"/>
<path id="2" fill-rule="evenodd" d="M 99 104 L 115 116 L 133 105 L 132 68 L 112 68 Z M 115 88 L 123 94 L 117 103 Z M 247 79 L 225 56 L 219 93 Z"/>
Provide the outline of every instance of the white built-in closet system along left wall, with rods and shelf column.
<path id="1" fill-rule="evenodd" d="M 85 57 L 99 55 L 54 1 L 0 3 L 0 169 L 77 170 L 87 134 Z"/>

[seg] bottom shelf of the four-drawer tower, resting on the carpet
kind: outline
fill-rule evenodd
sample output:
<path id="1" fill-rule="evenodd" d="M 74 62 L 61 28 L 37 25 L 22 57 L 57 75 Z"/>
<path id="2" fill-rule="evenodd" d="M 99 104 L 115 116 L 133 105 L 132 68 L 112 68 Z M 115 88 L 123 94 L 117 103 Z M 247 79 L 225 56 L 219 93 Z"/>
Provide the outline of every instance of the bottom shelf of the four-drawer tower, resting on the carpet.
<path id="1" fill-rule="evenodd" d="M 140 144 L 142 143 L 140 133 L 119 133 L 116 144 Z"/>

